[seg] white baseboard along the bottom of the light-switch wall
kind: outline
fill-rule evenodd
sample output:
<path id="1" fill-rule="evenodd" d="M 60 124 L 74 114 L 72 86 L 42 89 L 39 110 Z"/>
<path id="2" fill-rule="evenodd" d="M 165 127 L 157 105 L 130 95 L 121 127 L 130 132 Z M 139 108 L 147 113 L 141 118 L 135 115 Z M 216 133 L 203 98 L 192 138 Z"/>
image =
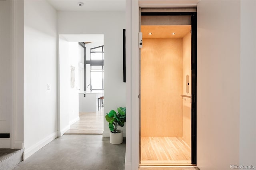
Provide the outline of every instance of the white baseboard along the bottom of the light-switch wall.
<path id="1" fill-rule="evenodd" d="M 44 147 L 46 144 L 50 143 L 52 140 L 54 140 L 57 137 L 57 132 L 54 132 L 47 136 L 46 138 L 43 138 L 36 144 L 30 146 L 29 148 L 24 148 L 24 160 L 34 154 L 36 151 Z"/>

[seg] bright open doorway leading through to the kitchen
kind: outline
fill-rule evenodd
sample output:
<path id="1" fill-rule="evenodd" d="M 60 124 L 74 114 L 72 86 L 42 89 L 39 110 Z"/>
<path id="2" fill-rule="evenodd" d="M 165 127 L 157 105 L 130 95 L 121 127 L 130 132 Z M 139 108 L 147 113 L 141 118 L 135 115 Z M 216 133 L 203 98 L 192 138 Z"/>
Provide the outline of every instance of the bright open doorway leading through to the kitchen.
<path id="1" fill-rule="evenodd" d="M 103 132 L 103 45 L 103 34 L 59 36 L 60 136 Z"/>

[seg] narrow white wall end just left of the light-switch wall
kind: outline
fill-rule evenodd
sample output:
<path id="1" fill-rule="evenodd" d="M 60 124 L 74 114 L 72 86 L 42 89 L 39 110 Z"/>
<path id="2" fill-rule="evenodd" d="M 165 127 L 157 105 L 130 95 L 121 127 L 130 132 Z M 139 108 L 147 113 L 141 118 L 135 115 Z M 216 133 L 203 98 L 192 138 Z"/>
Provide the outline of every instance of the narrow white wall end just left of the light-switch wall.
<path id="1" fill-rule="evenodd" d="M 24 142 L 24 1 L 14 1 L 13 23 L 13 102 L 11 148 L 23 148 Z M 13 138 L 14 137 L 14 138 Z"/>

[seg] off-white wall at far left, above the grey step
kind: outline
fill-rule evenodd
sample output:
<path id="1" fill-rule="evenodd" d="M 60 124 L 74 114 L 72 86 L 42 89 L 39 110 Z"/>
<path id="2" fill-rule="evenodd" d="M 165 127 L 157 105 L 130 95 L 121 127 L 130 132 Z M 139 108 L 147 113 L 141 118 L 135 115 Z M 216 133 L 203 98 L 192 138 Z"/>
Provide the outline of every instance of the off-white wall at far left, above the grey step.
<path id="1" fill-rule="evenodd" d="M 0 2 L 0 148 L 23 148 L 23 1 Z"/>

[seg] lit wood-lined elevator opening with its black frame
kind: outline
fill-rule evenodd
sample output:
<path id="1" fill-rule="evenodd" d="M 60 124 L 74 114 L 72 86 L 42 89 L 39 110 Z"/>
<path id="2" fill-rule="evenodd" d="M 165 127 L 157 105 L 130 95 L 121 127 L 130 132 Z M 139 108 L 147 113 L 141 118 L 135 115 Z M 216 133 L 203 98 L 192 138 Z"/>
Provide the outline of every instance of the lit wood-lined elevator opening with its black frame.
<path id="1" fill-rule="evenodd" d="M 196 12 L 144 11 L 140 164 L 196 164 Z"/>

